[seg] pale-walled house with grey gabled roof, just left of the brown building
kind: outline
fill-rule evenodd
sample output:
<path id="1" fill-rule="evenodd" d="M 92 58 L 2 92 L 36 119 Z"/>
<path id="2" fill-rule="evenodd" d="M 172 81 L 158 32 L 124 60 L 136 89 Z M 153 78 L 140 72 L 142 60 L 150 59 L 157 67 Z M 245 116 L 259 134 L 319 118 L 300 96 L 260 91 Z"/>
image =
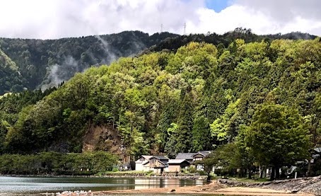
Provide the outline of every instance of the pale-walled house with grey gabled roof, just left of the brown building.
<path id="1" fill-rule="evenodd" d="M 168 171 L 169 160 L 170 158 L 166 156 L 152 156 L 143 166 L 149 167 L 149 171 L 153 171 L 153 173 L 163 173 L 163 171 Z"/>

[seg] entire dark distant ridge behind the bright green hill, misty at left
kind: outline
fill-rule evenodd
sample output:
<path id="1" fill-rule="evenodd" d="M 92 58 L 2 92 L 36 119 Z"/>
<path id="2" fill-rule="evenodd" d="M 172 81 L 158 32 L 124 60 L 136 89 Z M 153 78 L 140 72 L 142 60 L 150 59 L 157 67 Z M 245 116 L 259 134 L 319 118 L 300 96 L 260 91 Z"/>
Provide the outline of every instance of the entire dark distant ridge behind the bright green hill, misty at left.
<path id="1" fill-rule="evenodd" d="M 207 42 L 218 50 L 242 38 L 245 42 L 274 39 L 314 39 L 306 33 L 255 35 L 249 29 L 236 28 L 224 35 L 182 35 L 125 31 L 59 40 L 25 40 L 0 38 L 0 95 L 23 89 L 49 88 L 67 81 L 89 67 L 110 64 L 119 57 L 170 50 L 175 52 L 189 42 Z"/>

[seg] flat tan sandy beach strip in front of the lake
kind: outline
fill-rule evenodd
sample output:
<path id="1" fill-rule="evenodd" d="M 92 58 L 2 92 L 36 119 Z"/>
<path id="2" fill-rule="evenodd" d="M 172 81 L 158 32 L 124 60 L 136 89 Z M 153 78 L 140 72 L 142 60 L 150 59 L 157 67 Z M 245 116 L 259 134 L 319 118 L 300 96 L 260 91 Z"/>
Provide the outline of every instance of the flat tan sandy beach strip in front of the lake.
<path id="1" fill-rule="evenodd" d="M 289 193 L 286 190 L 272 190 L 272 189 L 263 189 L 263 188 L 240 188 L 240 187 L 228 188 L 226 187 L 226 185 L 221 185 L 216 182 L 210 183 L 208 185 L 179 187 L 174 189 L 175 189 L 174 191 L 175 193 L 182 193 L 182 194 L 312 196 L 309 194 Z M 151 188 L 151 189 L 142 189 L 142 190 L 112 190 L 112 191 L 93 192 L 93 195 L 110 195 L 110 194 L 119 194 L 119 193 L 147 193 L 147 194 L 148 193 L 168 193 L 168 192 L 171 192 L 172 190 L 173 188 Z"/>

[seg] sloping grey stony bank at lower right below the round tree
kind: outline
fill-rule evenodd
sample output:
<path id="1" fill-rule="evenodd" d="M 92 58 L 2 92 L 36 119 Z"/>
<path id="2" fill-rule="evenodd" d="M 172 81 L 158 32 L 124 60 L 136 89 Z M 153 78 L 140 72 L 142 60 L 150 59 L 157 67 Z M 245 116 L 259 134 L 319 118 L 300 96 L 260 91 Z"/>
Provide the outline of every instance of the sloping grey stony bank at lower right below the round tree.
<path id="1" fill-rule="evenodd" d="M 240 182 L 228 179 L 219 179 L 218 182 L 233 187 L 267 188 L 273 190 L 288 190 L 288 192 L 291 193 L 321 195 L 321 175 L 310 178 L 274 180 L 264 183 Z"/>

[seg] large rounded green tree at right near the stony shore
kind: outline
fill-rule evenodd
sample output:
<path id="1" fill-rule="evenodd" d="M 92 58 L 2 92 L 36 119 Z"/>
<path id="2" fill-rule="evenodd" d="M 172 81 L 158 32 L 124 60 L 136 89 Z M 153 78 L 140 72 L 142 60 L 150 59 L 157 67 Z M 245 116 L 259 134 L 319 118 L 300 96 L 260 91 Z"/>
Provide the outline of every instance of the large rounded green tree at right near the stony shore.
<path id="1" fill-rule="evenodd" d="M 271 180 L 279 168 L 307 158 L 310 135 L 298 110 L 264 103 L 257 107 L 246 129 L 246 145 L 262 165 L 272 166 Z"/>

